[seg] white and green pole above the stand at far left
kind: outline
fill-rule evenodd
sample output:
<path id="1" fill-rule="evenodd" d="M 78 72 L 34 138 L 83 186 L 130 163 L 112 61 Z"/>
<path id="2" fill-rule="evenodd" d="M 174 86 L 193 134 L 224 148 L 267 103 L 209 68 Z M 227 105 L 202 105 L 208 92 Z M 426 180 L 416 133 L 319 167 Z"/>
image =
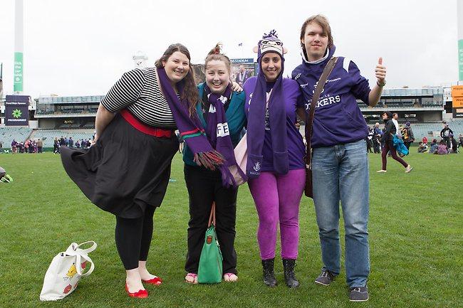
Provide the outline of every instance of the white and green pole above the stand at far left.
<path id="1" fill-rule="evenodd" d="M 13 91 L 15 94 L 23 92 L 23 51 L 24 51 L 24 20 L 23 0 L 16 0 L 14 8 L 14 79 Z"/>

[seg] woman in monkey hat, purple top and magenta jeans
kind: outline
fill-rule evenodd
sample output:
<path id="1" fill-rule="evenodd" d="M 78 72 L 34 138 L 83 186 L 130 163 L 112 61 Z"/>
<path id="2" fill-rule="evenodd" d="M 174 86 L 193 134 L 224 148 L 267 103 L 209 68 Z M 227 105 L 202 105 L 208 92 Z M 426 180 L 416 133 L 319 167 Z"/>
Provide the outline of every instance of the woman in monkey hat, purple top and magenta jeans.
<path id="1" fill-rule="evenodd" d="M 298 287 L 294 266 L 298 257 L 299 203 L 305 185 L 305 149 L 296 128 L 296 109 L 301 91 L 283 78 L 283 43 L 275 31 L 265 34 L 254 48 L 259 75 L 244 83 L 248 118 L 249 190 L 259 215 L 257 240 L 264 270 L 264 283 L 276 286 L 274 258 L 280 223 L 281 258 L 288 287 Z"/>

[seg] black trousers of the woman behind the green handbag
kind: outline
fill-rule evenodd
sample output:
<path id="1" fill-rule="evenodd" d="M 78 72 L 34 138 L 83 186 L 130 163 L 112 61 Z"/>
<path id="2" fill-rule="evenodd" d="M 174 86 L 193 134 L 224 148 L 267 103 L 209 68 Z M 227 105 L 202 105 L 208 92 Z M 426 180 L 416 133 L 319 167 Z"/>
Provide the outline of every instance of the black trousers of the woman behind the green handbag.
<path id="1" fill-rule="evenodd" d="M 197 274 L 204 235 L 209 223 L 212 202 L 215 201 L 216 231 L 222 250 L 224 273 L 236 272 L 234 250 L 236 224 L 236 196 L 238 188 L 222 186 L 220 171 L 199 166 L 184 166 L 185 182 L 189 195 L 188 254 L 185 270 Z"/>

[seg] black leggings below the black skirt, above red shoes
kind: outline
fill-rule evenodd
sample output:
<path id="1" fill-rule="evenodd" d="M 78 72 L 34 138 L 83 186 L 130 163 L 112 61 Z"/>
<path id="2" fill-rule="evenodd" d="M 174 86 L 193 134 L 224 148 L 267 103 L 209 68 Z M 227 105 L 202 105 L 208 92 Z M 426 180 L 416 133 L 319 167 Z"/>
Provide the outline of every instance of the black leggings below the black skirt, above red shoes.
<path id="1" fill-rule="evenodd" d="M 125 270 L 138 267 L 138 261 L 146 261 L 152 238 L 154 206 L 147 206 L 145 215 L 139 218 L 116 216 L 115 243 Z"/>

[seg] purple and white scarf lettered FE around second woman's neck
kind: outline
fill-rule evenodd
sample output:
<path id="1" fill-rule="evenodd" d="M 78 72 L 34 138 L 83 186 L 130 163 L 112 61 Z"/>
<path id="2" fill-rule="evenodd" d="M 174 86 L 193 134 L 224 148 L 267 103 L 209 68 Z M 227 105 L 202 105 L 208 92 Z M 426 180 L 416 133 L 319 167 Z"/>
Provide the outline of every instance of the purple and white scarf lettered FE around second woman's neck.
<path id="1" fill-rule="evenodd" d="M 225 116 L 224 105 L 231 100 L 231 87 L 227 86 L 225 92 L 220 94 L 212 93 L 209 87 L 204 85 L 204 92 L 207 95 L 207 100 L 211 104 L 209 114 L 207 115 L 206 135 L 210 144 L 214 149 L 222 154 L 225 158 L 223 165 L 219 166 L 222 173 L 222 184 L 226 187 L 236 187 L 236 181 L 229 170 L 230 166 L 237 166 L 243 179 L 246 175 L 241 171 L 236 164 L 233 144 L 231 143 L 227 117 Z"/>

